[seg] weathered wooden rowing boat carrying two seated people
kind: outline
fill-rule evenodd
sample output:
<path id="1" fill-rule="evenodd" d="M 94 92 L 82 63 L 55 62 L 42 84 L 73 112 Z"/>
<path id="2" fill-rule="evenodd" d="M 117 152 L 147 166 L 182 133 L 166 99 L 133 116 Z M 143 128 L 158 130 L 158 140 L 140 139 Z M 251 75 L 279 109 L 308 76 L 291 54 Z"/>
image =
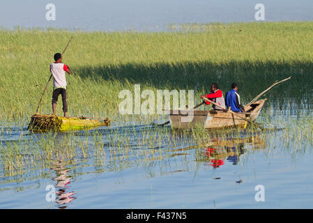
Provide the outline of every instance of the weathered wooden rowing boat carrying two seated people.
<path id="1" fill-rule="evenodd" d="M 238 116 L 254 121 L 259 116 L 259 113 L 264 105 L 264 100 L 258 100 L 249 107 L 246 107 L 247 112 L 237 113 Z M 192 128 L 227 128 L 235 126 L 244 126 L 246 121 L 242 118 L 231 114 L 230 112 L 222 111 L 187 111 L 187 110 L 170 110 L 169 121 L 171 128 L 175 129 L 192 129 Z"/>

